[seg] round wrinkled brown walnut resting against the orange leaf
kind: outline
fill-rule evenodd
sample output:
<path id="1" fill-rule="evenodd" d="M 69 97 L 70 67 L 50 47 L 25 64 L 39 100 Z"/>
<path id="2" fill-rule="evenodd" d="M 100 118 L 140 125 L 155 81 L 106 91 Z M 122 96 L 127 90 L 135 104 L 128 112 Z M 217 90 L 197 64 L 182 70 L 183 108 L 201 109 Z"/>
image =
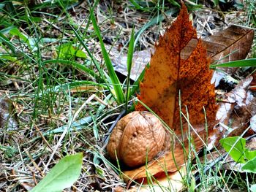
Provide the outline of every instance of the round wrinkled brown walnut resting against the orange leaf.
<path id="1" fill-rule="evenodd" d="M 165 128 L 150 112 L 131 112 L 113 128 L 108 142 L 110 158 L 134 167 L 146 164 L 162 150 Z M 116 151 L 116 153 L 115 153 Z"/>

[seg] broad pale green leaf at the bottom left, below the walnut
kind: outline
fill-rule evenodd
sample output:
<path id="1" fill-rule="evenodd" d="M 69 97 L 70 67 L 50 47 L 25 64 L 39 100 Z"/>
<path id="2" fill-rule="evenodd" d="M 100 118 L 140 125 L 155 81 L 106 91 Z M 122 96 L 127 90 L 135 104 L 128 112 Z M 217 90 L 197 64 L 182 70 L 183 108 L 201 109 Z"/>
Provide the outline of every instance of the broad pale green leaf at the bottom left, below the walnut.
<path id="1" fill-rule="evenodd" d="M 31 192 L 62 191 L 78 180 L 82 169 L 83 153 L 67 155 L 53 166 L 53 169 L 35 186 Z"/>

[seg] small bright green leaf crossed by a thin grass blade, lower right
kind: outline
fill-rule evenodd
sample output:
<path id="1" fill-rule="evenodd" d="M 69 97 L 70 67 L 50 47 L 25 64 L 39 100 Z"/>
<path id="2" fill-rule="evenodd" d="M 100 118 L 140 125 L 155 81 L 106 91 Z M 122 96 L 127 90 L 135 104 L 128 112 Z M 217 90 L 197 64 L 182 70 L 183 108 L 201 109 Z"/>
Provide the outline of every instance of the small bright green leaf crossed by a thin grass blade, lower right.
<path id="1" fill-rule="evenodd" d="M 246 139 L 241 137 L 227 137 L 220 139 L 219 142 L 227 153 L 230 154 L 234 161 L 241 163 L 245 162 L 244 152 L 246 150 Z"/>

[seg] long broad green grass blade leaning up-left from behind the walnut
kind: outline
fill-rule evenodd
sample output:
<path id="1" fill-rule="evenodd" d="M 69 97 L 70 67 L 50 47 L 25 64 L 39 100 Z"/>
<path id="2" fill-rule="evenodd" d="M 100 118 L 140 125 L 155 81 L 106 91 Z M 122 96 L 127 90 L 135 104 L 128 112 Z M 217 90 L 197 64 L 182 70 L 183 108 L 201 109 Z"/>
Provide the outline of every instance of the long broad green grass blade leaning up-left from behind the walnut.
<path id="1" fill-rule="evenodd" d="M 116 72 L 113 68 L 113 65 L 112 65 L 111 61 L 110 61 L 108 52 L 105 49 L 104 42 L 103 42 L 102 37 L 100 35 L 99 26 L 97 25 L 97 21 L 94 17 L 94 11 L 91 9 L 90 12 L 91 12 L 91 22 L 94 26 L 94 31 L 97 34 L 97 37 L 99 38 L 99 44 L 100 44 L 100 47 L 102 49 L 102 55 L 103 55 L 105 64 L 106 64 L 107 69 L 108 69 L 108 74 L 110 76 L 111 83 L 112 83 L 114 91 L 115 91 L 113 96 L 114 97 L 116 96 L 116 101 L 118 102 L 118 104 L 123 104 L 125 99 L 124 99 L 124 93 L 122 91 L 121 83 L 118 80 Z"/>

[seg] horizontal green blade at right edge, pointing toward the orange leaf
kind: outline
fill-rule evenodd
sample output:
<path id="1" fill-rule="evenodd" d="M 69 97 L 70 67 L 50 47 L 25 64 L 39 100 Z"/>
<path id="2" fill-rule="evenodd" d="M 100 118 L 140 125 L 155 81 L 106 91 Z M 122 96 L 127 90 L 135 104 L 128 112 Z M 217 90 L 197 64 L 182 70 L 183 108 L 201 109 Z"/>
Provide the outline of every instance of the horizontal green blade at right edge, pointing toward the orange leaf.
<path id="1" fill-rule="evenodd" d="M 238 61 L 230 61 L 223 64 L 214 64 L 211 65 L 210 68 L 213 69 L 215 67 L 244 67 L 244 66 L 256 66 L 256 58 L 248 58 Z"/>

